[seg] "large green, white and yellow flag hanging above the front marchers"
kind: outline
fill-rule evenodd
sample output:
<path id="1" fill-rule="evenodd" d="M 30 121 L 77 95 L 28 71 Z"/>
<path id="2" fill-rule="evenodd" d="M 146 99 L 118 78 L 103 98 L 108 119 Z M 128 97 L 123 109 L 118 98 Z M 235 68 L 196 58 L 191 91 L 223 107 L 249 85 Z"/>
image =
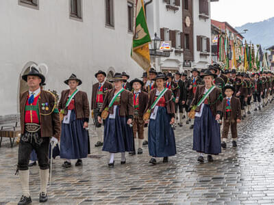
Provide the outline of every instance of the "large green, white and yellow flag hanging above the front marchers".
<path id="1" fill-rule="evenodd" d="M 146 71 L 151 67 L 149 42 L 151 42 L 151 38 L 147 27 L 144 1 L 136 0 L 135 29 L 132 40 L 131 56 L 132 59 L 134 59 L 134 61 L 136 61 L 136 63 Z"/>

